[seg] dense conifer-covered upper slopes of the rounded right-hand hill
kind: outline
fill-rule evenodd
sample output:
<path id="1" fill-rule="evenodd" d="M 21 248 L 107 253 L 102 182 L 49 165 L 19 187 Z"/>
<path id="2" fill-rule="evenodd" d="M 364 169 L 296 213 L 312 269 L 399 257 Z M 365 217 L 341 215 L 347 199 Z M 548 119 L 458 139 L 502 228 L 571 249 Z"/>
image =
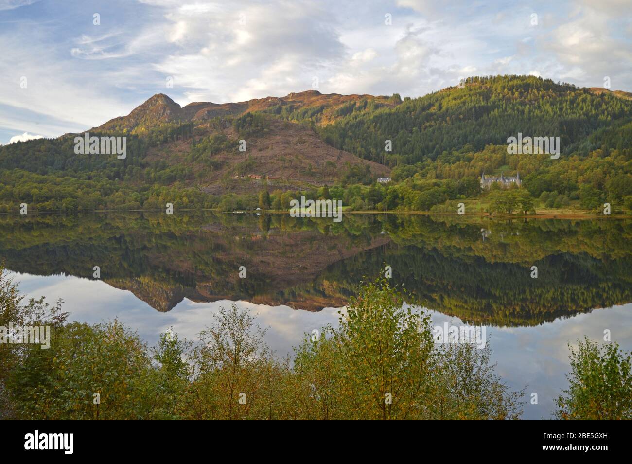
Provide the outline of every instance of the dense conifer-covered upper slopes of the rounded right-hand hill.
<path id="1" fill-rule="evenodd" d="M 519 132 L 560 137 L 562 154 L 588 154 L 602 145 L 591 138 L 600 129 L 631 120 L 629 95 L 535 76 L 472 77 L 463 88 L 404 99 L 387 111 L 351 113 L 320 135 L 339 149 L 389 166 L 435 160 L 462 149 L 506 146 L 507 138 Z M 386 156 L 385 139 L 392 140 Z"/>

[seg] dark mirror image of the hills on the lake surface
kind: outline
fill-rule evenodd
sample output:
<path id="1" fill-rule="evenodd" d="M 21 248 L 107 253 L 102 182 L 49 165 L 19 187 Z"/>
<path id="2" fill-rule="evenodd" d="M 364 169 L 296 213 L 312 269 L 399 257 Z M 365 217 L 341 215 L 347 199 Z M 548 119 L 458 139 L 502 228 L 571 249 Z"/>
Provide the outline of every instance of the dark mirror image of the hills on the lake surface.
<path id="1" fill-rule="evenodd" d="M 491 326 L 632 301 L 630 221 L 126 213 L 3 216 L 0 226 L 11 271 L 92 279 L 99 266 L 102 282 L 161 312 L 185 299 L 341 307 L 384 264 L 415 303 Z"/>

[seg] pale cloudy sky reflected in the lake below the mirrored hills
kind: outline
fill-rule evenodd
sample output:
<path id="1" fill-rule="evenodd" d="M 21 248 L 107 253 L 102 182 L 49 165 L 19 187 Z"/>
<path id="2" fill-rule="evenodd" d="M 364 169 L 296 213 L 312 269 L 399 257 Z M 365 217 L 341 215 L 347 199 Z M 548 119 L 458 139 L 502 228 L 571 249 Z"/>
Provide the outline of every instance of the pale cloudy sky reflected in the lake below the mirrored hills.
<path id="1" fill-rule="evenodd" d="M 230 305 L 229 300 L 197 303 L 185 298 L 169 312 L 156 312 L 138 300 L 130 291 L 122 291 L 104 282 L 73 276 L 30 276 L 14 274 L 20 290 L 29 296 L 47 295 L 47 299 L 63 298 L 70 319 L 100 322 L 118 318 L 132 327 L 150 345 L 157 342 L 161 332 L 173 327 L 176 333 L 196 339 L 197 333 L 213 321 L 217 308 Z M 265 341 L 283 357 L 291 354 L 304 333 L 311 333 L 325 324 L 336 325 L 336 308 L 320 312 L 294 310 L 288 306 L 256 305 L 235 302 L 257 314 L 257 322 L 269 327 Z M 457 317 L 431 311 L 433 324 L 460 325 Z M 632 303 L 590 313 L 564 317 L 554 322 L 531 327 L 486 327 L 487 341 L 492 348 L 492 362 L 497 373 L 513 389 L 528 386 L 528 393 L 538 393 L 538 405 L 525 406 L 524 418 L 550 418 L 554 401 L 566 387 L 564 374 L 569 371 L 568 346 L 584 334 L 602 340 L 604 329 L 612 331 L 612 339 L 623 349 L 632 350 Z M 527 400 L 529 398 L 526 398 Z"/>

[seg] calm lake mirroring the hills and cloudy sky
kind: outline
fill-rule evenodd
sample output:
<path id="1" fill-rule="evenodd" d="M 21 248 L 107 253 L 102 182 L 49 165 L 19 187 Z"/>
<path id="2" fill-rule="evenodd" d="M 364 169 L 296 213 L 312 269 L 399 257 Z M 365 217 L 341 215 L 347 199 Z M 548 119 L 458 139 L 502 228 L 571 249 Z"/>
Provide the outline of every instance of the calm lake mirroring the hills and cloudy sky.
<path id="1" fill-rule="evenodd" d="M 150 344 L 169 327 L 195 339 L 234 302 L 284 356 L 303 334 L 337 324 L 358 284 L 390 266 L 392 284 L 434 325 L 485 327 L 497 373 L 526 387 L 525 400 L 538 395 L 528 419 L 550 418 L 568 343 L 609 331 L 632 350 L 631 238 L 632 221 L 610 218 L 0 216 L 0 257 L 23 293 L 63 299 L 71 320 L 118 318 Z"/>

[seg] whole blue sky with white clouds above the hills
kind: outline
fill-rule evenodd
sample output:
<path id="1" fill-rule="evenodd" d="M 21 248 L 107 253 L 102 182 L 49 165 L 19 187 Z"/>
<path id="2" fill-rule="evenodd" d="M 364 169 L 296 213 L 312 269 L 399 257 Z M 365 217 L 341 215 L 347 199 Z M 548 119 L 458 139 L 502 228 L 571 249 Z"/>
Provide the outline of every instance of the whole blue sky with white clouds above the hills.
<path id="1" fill-rule="evenodd" d="M 632 91 L 632 1 L 0 0 L 0 143 L 158 93 L 418 97 L 497 74 Z"/>

